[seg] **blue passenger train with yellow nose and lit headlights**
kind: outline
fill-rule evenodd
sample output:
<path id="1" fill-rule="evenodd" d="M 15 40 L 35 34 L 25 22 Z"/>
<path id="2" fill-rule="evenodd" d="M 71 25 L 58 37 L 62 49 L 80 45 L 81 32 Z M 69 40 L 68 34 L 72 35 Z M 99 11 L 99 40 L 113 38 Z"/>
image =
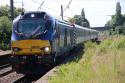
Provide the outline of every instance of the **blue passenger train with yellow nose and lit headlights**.
<path id="1" fill-rule="evenodd" d="M 26 69 L 30 65 L 53 65 L 58 57 L 64 56 L 83 42 L 97 40 L 98 33 L 57 19 L 47 12 L 22 13 L 13 21 L 12 69 L 18 73 L 27 73 Z"/>

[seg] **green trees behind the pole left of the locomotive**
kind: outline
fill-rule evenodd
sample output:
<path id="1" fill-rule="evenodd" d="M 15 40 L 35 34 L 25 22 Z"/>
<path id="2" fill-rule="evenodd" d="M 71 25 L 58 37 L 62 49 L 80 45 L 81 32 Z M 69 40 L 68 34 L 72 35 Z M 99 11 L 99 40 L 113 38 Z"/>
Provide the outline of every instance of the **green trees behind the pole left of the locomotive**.
<path id="1" fill-rule="evenodd" d="M 14 8 L 14 16 L 18 16 L 21 8 Z M 10 8 L 9 6 L 0 6 L 0 49 L 10 49 L 11 39 L 11 21 L 10 21 Z"/>

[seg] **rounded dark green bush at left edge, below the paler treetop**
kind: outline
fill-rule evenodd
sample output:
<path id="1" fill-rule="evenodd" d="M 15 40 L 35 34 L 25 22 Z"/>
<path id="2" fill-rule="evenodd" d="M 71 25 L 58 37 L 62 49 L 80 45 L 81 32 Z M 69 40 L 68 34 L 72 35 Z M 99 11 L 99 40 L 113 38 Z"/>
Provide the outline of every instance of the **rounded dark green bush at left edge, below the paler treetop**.
<path id="1" fill-rule="evenodd" d="M 1 48 L 8 48 L 11 38 L 11 21 L 8 17 L 0 17 L 0 44 Z"/>

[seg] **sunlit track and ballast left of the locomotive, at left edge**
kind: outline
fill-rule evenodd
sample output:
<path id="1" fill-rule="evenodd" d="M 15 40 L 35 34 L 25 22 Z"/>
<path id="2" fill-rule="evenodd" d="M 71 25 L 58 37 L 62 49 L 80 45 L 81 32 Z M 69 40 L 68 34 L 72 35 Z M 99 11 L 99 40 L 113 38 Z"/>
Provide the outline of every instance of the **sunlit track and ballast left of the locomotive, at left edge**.
<path id="1" fill-rule="evenodd" d="M 10 51 L 0 52 L 0 83 L 12 83 L 24 75 L 17 74 L 9 64 Z"/>

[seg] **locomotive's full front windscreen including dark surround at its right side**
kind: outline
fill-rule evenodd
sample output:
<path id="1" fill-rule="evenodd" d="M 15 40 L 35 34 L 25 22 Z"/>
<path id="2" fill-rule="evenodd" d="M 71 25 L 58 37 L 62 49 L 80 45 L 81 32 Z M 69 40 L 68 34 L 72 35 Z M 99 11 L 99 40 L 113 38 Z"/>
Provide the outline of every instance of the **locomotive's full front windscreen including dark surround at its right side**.
<path id="1" fill-rule="evenodd" d="M 23 19 L 18 23 L 17 31 L 24 36 L 31 37 L 46 34 L 52 27 L 51 20 L 45 19 Z"/>

